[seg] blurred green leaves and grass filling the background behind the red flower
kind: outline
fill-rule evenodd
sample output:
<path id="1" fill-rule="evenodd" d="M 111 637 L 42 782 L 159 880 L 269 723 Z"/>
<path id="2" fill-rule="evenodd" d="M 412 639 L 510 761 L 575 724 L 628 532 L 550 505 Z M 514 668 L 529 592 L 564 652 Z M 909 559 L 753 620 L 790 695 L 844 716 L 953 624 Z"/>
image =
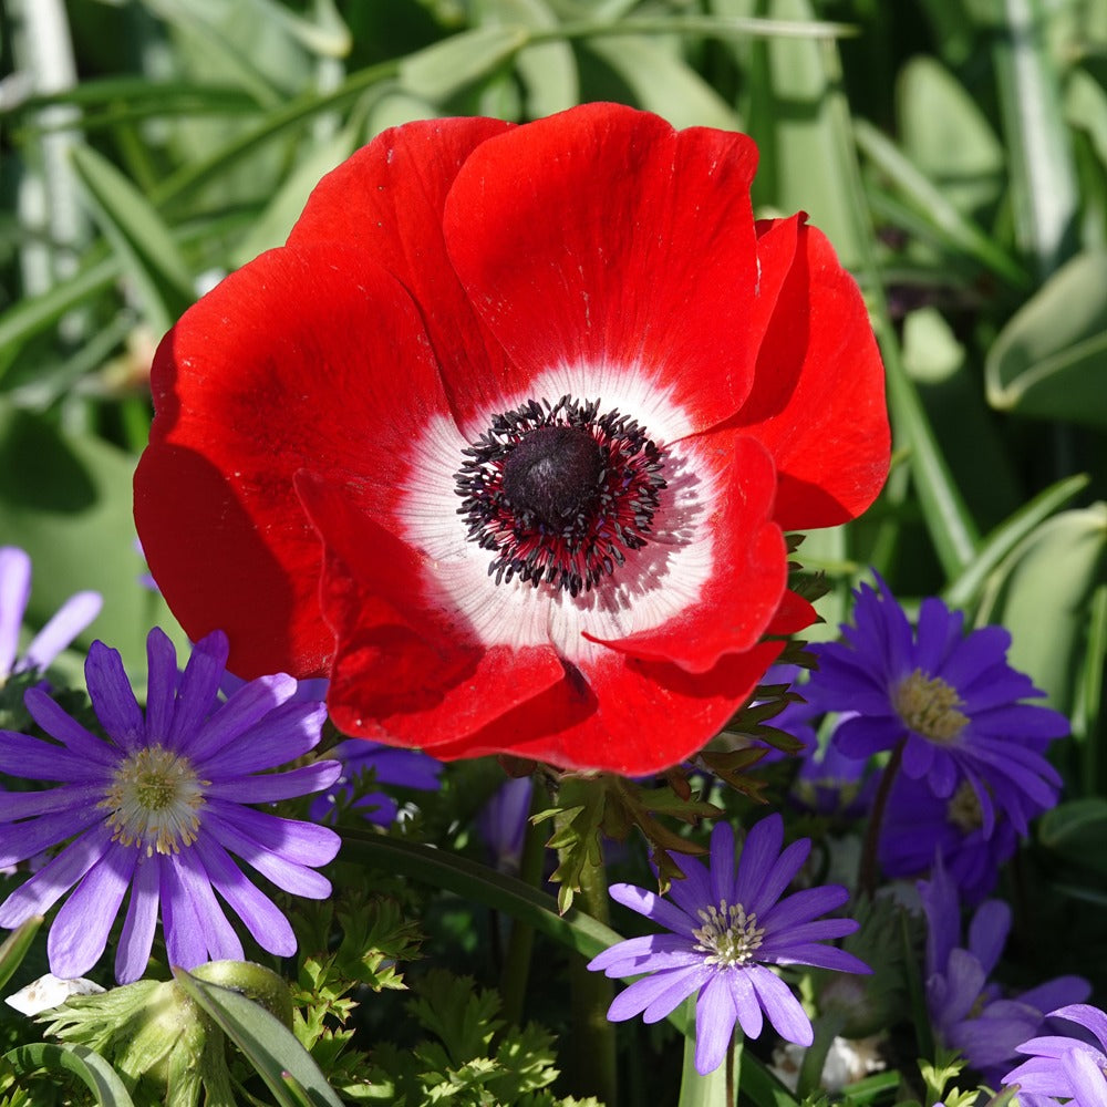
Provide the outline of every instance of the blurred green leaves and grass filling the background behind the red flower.
<path id="1" fill-rule="evenodd" d="M 888 487 L 803 548 L 819 632 L 869 565 L 1008 627 L 1074 732 L 1008 959 L 1107 996 L 1107 0 L 4 0 L 0 35 L 0 540 L 32 624 L 100 590 L 80 644 L 142 680 L 173 625 L 131 520 L 153 346 L 375 133 L 590 100 L 747 131 L 758 210 L 827 231 L 888 368 Z"/>

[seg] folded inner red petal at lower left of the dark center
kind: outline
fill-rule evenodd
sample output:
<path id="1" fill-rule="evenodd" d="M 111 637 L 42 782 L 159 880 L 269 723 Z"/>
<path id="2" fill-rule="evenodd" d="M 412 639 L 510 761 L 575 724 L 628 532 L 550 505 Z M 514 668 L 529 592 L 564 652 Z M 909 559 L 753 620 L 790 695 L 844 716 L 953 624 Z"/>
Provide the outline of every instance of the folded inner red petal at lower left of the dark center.
<path id="1" fill-rule="evenodd" d="M 297 490 L 325 542 L 323 612 L 338 652 L 328 702 L 345 734 L 433 749 L 561 680 L 551 646 L 483 646 L 434 592 L 434 567 L 341 485 L 307 473 Z"/>

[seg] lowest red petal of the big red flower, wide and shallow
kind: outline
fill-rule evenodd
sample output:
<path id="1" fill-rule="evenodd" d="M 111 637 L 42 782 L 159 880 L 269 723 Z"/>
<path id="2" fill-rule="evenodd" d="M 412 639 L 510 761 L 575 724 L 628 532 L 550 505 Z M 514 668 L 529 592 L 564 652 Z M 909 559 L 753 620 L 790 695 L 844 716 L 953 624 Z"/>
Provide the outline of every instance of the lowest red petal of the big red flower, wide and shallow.
<path id="1" fill-rule="evenodd" d="M 586 677 L 570 672 L 537 699 L 501 715 L 436 757 L 510 751 L 568 769 L 644 776 L 701 749 L 749 697 L 782 642 L 731 653 L 706 673 L 607 654 Z"/>

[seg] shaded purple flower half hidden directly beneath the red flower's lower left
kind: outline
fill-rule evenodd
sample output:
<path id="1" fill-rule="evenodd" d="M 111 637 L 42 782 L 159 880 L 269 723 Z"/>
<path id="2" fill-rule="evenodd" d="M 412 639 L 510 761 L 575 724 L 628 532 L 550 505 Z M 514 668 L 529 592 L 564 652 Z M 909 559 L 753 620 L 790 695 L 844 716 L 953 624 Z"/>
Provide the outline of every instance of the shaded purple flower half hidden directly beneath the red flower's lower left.
<path id="1" fill-rule="evenodd" d="M 325 695 L 325 690 L 323 694 Z M 311 817 L 320 823 L 333 820 L 338 796 L 342 795 L 370 823 L 382 827 L 392 826 L 399 814 L 395 799 L 380 789 L 359 794 L 354 787 L 356 778 L 370 770 L 373 773 L 374 784 L 416 788 L 421 792 L 436 792 L 441 787 L 438 776 L 442 773 L 442 762 L 417 749 L 386 746 L 370 738 L 350 738 L 340 742 L 330 754 L 339 759 L 342 773 L 324 795 L 312 800 Z"/>

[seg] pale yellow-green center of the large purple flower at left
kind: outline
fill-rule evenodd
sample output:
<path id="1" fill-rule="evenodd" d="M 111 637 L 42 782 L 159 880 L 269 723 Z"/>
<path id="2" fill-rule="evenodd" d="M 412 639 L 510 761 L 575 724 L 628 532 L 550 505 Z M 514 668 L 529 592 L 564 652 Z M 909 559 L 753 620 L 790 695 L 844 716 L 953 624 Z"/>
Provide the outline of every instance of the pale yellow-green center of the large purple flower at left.
<path id="1" fill-rule="evenodd" d="M 112 841 L 137 846 L 146 856 L 179 853 L 196 841 L 204 785 L 192 764 L 164 746 L 139 749 L 123 759 L 97 805 L 111 811 Z"/>

